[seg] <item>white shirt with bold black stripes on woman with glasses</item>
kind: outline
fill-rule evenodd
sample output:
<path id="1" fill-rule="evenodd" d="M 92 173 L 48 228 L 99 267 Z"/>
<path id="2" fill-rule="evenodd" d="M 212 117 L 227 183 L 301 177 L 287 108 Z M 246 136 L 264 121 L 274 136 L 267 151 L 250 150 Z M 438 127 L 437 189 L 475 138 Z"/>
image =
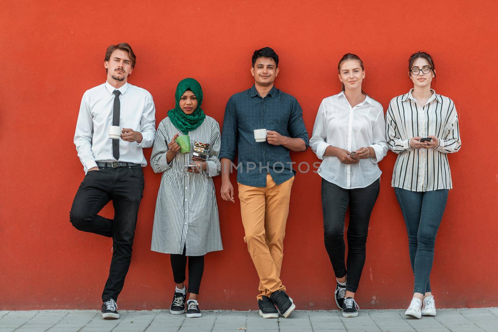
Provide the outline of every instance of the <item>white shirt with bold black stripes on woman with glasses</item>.
<path id="1" fill-rule="evenodd" d="M 385 114 L 389 150 L 398 154 L 392 172 L 392 187 L 424 192 L 451 189 L 448 153 L 462 145 L 455 103 L 432 91 L 425 105 L 419 105 L 410 90 L 393 98 Z M 412 137 L 434 135 L 439 139 L 435 149 L 413 149 Z"/>

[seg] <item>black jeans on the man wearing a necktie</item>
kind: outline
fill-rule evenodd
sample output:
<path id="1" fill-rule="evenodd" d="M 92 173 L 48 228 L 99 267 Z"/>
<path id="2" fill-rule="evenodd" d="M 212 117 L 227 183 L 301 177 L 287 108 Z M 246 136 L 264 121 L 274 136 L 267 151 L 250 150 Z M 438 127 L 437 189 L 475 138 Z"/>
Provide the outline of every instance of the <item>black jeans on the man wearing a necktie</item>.
<path id="1" fill-rule="evenodd" d="M 140 166 L 104 168 L 87 173 L 76 193 L 69 220 L 79 230 L 113 238 L 113 258 L 102 300 L 118 300 L 131 260 L 138 207 L 143 194 Z M 114 219 L 97 214 L 113 201 Z"/>

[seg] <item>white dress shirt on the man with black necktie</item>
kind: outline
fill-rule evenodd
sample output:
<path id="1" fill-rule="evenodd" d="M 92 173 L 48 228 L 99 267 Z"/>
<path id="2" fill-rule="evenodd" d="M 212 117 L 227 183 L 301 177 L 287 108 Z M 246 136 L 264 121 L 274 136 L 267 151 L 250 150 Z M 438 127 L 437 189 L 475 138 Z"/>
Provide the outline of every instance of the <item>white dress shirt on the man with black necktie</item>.
<path id="1" fill-rule="evenodd" d="M 152 96 L 144 89 L 125 83 L 116 89 L 108 82 L 87 90 L 81 100 L 74 133 L 74 144 L 85 173 L 97 161 L 116 161 L 109 126 L 113 124 L 114 90 L 119 90 L 120 127 L 142 134 L 141 143 L 120 138 L 119 161 L 147 165 L 142 148 L 151 147 L 155 136 L 155 107 Z"/>

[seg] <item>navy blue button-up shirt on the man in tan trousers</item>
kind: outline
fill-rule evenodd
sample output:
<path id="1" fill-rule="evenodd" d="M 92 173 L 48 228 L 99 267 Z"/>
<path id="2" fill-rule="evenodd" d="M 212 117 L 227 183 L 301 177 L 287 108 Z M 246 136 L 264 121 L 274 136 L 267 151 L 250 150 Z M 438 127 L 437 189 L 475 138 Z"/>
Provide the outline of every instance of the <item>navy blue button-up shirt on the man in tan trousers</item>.
<path id="1" fill-rule="evenodd" d="M 254 129 L 261 128 L 287 137 L 299 137 L 306 147 L 309 146 L 303 110 L 294 97 L 273 87 L 261 98 L 254 86 L 233 95 L 225 109 L 219 158 L 234 161 L 239 150 L 239 162 L 234 167 L 238 171 L 237 182 L 243 185 L 266 187 L 267 173 L 279 185 L 296 173 L 289 149 L 255 141 Z"/>

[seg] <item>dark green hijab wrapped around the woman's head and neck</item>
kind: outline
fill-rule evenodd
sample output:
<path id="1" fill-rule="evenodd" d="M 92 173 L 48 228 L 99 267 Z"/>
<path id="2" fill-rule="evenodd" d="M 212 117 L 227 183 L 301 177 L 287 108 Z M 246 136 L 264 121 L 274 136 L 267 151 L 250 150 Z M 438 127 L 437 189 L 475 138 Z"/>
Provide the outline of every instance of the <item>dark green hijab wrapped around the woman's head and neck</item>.
<path id="1" fill-rule="evenodd" d="M 180 109 L 180 97 L 187 90 L 192 91 L 197 98 L 197 109 L 192 114 L 185 114 L 182 109 Z M 188 135 L 189 131 L 200 126 L 206 118 L 206 114 L 204 114 L 204 111 L 201 109 L 201 104 L 202 88 L 199 82 L 193 78 L 183 79 L 176 87 L 175 108 L 168 111 L 168 117 L 175 127 L 184 135 Z"/>

